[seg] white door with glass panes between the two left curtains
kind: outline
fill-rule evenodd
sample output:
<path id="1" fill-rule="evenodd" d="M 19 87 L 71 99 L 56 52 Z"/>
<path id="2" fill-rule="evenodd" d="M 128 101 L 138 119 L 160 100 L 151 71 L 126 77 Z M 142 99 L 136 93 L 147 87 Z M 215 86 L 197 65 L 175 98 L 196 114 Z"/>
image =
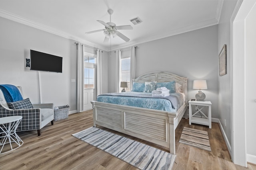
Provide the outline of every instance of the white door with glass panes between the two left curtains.
<path id="1" fill-rule="evenodd" d="M 96 64 L 84 64 L 84 110 L 92 109 L 91 101 L 96 100 Z"/>

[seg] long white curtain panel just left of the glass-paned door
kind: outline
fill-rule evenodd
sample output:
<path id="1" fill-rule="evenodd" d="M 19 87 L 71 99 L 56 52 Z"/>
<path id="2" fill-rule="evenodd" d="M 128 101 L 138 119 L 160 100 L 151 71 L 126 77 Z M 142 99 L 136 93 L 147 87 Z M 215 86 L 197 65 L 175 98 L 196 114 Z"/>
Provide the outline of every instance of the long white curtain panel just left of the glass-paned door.
<path id="1" fill-rule="evenodd" d="M 84 98 L 84 45 L 77 44 L 76 48 L 76 68 L 77 68 L 77 112 L 83 111 Z"/>

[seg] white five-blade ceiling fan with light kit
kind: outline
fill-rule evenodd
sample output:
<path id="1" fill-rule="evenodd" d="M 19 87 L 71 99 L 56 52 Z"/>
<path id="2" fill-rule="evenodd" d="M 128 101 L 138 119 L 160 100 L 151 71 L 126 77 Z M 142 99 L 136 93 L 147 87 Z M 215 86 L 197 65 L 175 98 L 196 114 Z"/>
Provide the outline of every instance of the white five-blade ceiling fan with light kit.
<path id="1" fill-rule="evenodd" d="M 124 41 L 128 42 L 130 39 L 126 37 L 124 34 L 120 33 L 118 30 L 121 29 L 133 29 L 131 25 L 120 25 L 116 26 L 115 23 L 111 22 L 111 15 L 113 14 L 113 10 L 108 10 L 108 14 L 110 15 L 110 22 L 105 23 L 104 21 L 97 20 L 99 23 L 105 26 L 105 29 L 99 29 L 95 31 L 86 32 L 86 34 L 95 33 L 99 31 L 104 31 L 104 35 L 106 36 L 104 39 L 104 43 L 108 42 L 110 38 L 114 38 L 116 36 L 122 38 Z"/>

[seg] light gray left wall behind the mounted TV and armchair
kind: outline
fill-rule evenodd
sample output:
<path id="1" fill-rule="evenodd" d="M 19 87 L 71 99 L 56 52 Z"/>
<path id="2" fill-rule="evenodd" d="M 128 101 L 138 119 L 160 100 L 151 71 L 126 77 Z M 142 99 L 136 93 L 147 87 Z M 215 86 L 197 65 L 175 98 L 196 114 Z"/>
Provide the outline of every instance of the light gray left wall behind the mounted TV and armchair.
<path id="1" fill-rule="evenodd" d="M 76 45 L 66 39 L 0 18 L 0 84 L 22 86 L 24 97 L 39 103 L 38 72 L 26 67 L 30 49 L 63 57 L 62 73 L 40 72 L 42 103 L 76 110 Z"/>

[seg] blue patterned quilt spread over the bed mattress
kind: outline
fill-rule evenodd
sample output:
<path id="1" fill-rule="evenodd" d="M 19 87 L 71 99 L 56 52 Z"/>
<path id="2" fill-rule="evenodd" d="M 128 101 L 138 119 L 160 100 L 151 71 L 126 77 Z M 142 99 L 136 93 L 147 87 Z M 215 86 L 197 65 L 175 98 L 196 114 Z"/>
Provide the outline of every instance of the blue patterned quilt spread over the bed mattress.
<path id="1" fill-rule="evenodd" d="M 162 97 L 146 92 L 106 93 L 99 95 L 97 101 L 170 112 L 176 112 L 184 103 L 180 93 L 170 93 L 170 96 Z"/>

